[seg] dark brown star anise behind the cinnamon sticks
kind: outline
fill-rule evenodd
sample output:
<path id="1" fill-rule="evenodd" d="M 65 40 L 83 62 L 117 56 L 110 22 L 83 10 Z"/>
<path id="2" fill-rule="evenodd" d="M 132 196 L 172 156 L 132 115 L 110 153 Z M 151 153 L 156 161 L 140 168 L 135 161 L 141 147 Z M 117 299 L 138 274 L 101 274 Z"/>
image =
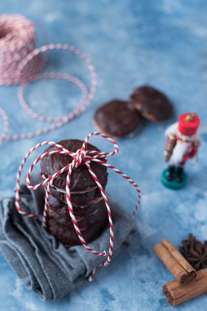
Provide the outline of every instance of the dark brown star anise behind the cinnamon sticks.
<path id="1" fill-rule="evenodd" d="M 188 239 L 182 241 L 180 252 L 194 269 L 204 269 L 207 265 L 207 241 L 202 244 L 190 233 Z"/>

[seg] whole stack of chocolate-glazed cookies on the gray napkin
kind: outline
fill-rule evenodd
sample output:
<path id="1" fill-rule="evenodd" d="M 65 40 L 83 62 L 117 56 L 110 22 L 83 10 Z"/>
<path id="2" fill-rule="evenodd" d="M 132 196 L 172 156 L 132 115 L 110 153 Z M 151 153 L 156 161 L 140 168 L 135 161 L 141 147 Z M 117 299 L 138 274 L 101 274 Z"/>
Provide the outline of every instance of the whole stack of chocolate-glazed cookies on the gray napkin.
<path id="1" fill-rule="evenodd" d="M 82 147 L 83 141 L 68 139 L 58 142 L 69 151 L 76 152 Z M 57 147 L 50 146 L 45 152 L 57 150 Z M 100 151 L 95 146 L 87 143 L 85 150 Z M 70 155 L 55 153 L 41 159 L 40 178 L 45 180 L 67 164 L 73 158 Z M 103 189 L 107 183 L 107 168 L 97 162 L 91 161 L 90 167 L 99 179 Z M 60 174 L 51 187 L 47 214 L 47 227 L 50 232 L 59 239 L 65 246 L 81 244 L 74 229 L 68 205 L 66 203 L 66 178 L 68 170 Z M 45 191 L 47 184 L 45 184 Z M 91 176 L 86 165 L 73 168 L 70 176 L 70 197 L 73 212 L 77 224 L 86 243 L 96 239 L 108 219 L 108 212 L 102 194 Z"/>

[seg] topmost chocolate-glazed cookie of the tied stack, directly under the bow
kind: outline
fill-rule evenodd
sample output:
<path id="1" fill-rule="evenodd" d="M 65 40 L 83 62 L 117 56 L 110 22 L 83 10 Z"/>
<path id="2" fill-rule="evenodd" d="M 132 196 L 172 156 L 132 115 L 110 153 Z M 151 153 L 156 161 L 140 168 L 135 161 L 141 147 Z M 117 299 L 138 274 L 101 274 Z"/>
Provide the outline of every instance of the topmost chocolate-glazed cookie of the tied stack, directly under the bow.
<path id="1" fill-rule="evenodd" d="M 64 146 L 66 149 L 72 152 L 76 152 L 78 149 L 82 147 L 83 141 L 78 139 L 67 139 L 58 142 L 58 144 Z M 45 152 L 58 150 L 56 146 L 48 147 Z M 100 151 L 95 146 L 87 143 L 86 144 L 86 151 L 88 150 L 95 150 Z M 62 169 L 67 164 L 71 163 L 73 158 L 70 155 L 55 153 L 48 156 L 45 156 L 41 159 L 41 170 L 42 173 L 40 177 L 44 180 L 45 178 L 50 177 L 51 175 L 55 174 L 57 171 Z M 104 161 L 104 159 L 102 159 Z M 97 162 L 91 161 L 90 167 L 93 169 L 94 173 L 96 174 L 97 178 L 99 179 L 100 183 L 103 182 L 103 178 L 106 174 L 107 168 L 104 165 L 100 165 Z M 66 178 L 67 178 L 68 170 L 64 173 L 60 174 L 53 185 L 57 188 L 65 189 L 66 187 Z M 89 170 L 87 169 L 86 165 L 81 165 L 80 167 L 73 168 L 72 173 L 70 175 L 70 191 L 71 192 L 80 192 L 80 191 L 89 191 L 95 188 L 97 185 L 95 180 L 91 176 Z"/>

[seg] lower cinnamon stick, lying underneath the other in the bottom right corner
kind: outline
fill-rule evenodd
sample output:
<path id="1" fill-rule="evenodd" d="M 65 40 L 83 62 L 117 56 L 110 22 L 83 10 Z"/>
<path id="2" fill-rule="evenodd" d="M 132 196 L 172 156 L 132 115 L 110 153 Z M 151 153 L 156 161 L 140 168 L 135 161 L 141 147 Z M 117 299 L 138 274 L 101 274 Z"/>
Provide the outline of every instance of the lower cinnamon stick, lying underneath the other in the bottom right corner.
<path id="1" fill-rule="evenodd" d="M 176 280 L 163 285 L 163 292 L 171 306 L 176 306 L 183 301 L 207 292 L 207 268 L 197 272 L 194 282 L 181 286 Z"/>

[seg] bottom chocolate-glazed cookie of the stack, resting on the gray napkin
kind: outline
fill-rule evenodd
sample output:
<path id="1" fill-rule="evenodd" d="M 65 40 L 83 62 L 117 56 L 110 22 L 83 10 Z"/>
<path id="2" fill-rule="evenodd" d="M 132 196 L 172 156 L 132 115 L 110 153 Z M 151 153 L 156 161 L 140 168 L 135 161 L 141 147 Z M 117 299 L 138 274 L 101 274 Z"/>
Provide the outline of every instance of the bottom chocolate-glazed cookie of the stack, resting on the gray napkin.
<path id="1" fill-rule="evenodd" d="M 101 214 L 99 217 L 99 220 L 97 220 L 93 225 L 79 227 L 86 243 L 93 241 L 99 236 L 106 225 L 107 218 L 108 214 L 106 215 L 106 211 L 104 209 L 103 214 Z M 65 244 L 66 247 L 81 244 L 74 227 L 72 229 L 67 229 L 66 227 L 56 223 L 54 219 L 47 219 L 47 226 L 50 232 L 60 242 Z"/>

